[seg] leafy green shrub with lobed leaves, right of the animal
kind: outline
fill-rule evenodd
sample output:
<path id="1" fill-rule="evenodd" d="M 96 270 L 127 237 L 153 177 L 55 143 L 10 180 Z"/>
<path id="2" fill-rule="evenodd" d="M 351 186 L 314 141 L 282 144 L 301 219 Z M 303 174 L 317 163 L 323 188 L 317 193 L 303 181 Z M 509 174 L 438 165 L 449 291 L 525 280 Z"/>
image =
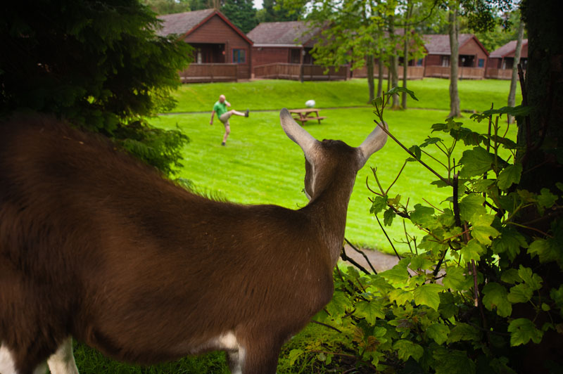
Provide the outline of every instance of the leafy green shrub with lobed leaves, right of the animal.
<path id="1" fill-rule="evenodd" d="M 374 102 L 380 123 L 392 93 Z M 390 134 L 408 153 L 405 164 L 431 169 L 437 177 L 431 184 L 450 190 L 450 197 L 411 207 L 403 194 L 391 193 L 401 172 L 383 188 L 373 169 L 378 187 L 370 190 L 371 212 L 383 221 L 381 228 L 410 221 L 419 233 L 405 230 L 410 251 L 393 269 L 335 270 L 333 299 L 315 317 L 341 331 L 340 350 L 327 354 L 353 351 L 359 366 L 381 371 L 516 373 L 519 357 L 511 347 L 562 333 L 562 280 L 546 279 L 563 266 L 563 183 L 540 193 L 519 188 L 525 151 L 505 137 L 501 121 L 507 114 L 522 120 L 528 113 L 505 107 L 472 116 L 489 122 L 484 134 L 448 118 L 410 148 Z M 471 148 L 454 160 L 461 144 Z M 431 155 L 431 147 L 442 157 Z M 500 157 L 502 149 L 508 157 Z M 430 158 L 442 172 L 426 164 Z M 531 212 L 551 219 L 545 231 L 526 222 Z M 538 370 L 549 365 L 562 369 L 538 362 Z"/>

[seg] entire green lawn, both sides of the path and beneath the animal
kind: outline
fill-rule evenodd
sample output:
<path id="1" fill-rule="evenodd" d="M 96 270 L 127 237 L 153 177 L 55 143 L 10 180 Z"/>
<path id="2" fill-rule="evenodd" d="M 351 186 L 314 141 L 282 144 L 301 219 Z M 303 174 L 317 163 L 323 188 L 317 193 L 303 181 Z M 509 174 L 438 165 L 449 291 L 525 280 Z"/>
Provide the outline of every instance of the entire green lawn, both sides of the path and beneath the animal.
<path id="1" fill-rule="evenodd" d="M 429 108 L 407 111 L 386 111 L 385 119 L 391 132 L 405 145 L 421 143 L 429 134 L 431 124 L 443 122 L 448 115 L 448 80 L 424 79 L 409 82 L 419 102 L 410 100 L 410 108 Z M 505 106 L 508 95 L 508 82 L 505 81 L 462 81 L 460 96 L 462 108 L 485 110 L 494 102 L 496 107 Z M 210 108 L 220 93 L 227 96 L 234 108 L 251 108 L 248 118 L 232 117 L 232 134 L 227 146 L 220 145 L 223 127 L 215 120 L 209 125 Z M 307 204 L 303 194 L 305 175 L 304 157 L 301 148 L 284 134 L 279 125 L 279 109 L 301 108 L 310 98 L 317 101 L 327 119 L 322 124 L 305 124 L 312 136 L 337 138 L 350 146 L 358 146 L 374 128 L 375 115 L 372 108 L 365 105 L 367 84 L 365 80 L 354 79 L 348 82 L 299 82 L 257 81 L 228 84 L 190 84 L 177 92 L 179 105 L 177 112 L 151 119 L 158 127 L 172 129 L 178 126 L 187 134 L 191 143 L 184 152 L 184 167 L 178 176 L 189 179 L 196 190 L 215 198 L 248 204 L 277 204 L 298 209 Z M 518 100 L 518 99 L 517 99 Z M 344 108 L 361 107 L 361 108 Z M 271 110 L 271 111 L 257 111 Z M 486 132 L 486 124 L 477 124 L 466 115 L 462 122 L 474 131 Z M 515 138 L 515 126 L 511 136 Z M 457 153 L 459 160 L 462 148 Z M 373 247 L 391 252 L 391 246 L 384 238 L 374 217 L 369 214 L 369 197 L 366 179 L 372 188 L 376 183 L 369 167 L 377 167 L 377 173 L 384 188 L 393 181 L 403 165 L 407 154 L 391 139 L 378 153 L 372 155 L 367 165 L 358 173 L 354 192 L 350 198 L 346 237 L 363 247 Z M 432 163 L 436 166 L 436 163 Z M 391 195 L 400 194 L 403 199 L 410 198 L 409 206 L 423 202 L 440 202 L 450 193 L 446 189 L 436 189 L 430 182 L 436 177 L 415 163 L 407 164 Z M 403 238 L 403 228 L 396 219 L 388 228 L 392 238 Z M 289 245 L 289 243 L 288 243 Z M 400 250 L 405 247 L 398 245 Z M 287 355 L 291 347 L 303 347 L 307 341 L 324 332 L 324 328 L 310 325 L 300 333 L 281 354 L 278 373 L 311 373 L 312 368 L 289 366 Z M 326 329 L 325 329 L 326 330 Z M 228 373 L 222 354 L 210 354 L 197 358 L 186 358 L 175 363 L 139 368 L 127 366 L 103 358 L 83 345 L 77 345 L 77 364 L 82 374 L 94 373 Z"/>

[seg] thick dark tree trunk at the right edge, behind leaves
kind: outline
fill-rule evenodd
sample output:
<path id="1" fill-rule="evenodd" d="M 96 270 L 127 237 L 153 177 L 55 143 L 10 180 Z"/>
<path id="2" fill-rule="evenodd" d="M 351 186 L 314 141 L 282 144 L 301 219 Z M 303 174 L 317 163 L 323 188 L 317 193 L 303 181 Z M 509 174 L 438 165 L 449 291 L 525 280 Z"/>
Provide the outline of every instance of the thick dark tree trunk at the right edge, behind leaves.
<path id="1" fill-rule="evenodd" d="M 524 151 L 522 157 L 522 174 L 518 188 L 540 193 L 542 188 L 549 188 L 552 193 L 560 194 L 556 183 L 562 180 L 563 147 L 563 2 L 560 0 L 525 0 L 522 2 L 521 15 L 528 29 L 528 71 L 524 101 L 527 101 L 531 112 L 529 118 L 518 127 L 517 143 Z M 521 213 L 521 224 L 526 224 L 540 231 L 547 231 L 551 224 L 561 217 L 551 217 L 534 221 L 531 212 Z M 557 229 L 555 229 L 557 230 Z M 537 235 L 536 231 L 529 231 Z M 555 231 L 557 233 L 557 231 Z M 544 285 L 557 285 L 561 282 L 559 266 L 550 263 L 539 264 L 537 258 L 519 257 L 521 264 L 533 269 L 543 278 Z M 555 268 L 555 269 L 554 269 Z M 546 288 L 549 292 L 549 287 Z M 535 315 L 529 304 L 515 304 L 519 310 L 512 317 Z M 527 310 L 526 310 L 527 308 Z M 532 309 L 532 310 L 530 310 Z M 546 318 L 543 318 L 546 319 Z M 535 321 L 542 326 L 545 321 Z M 563 335 L 548 330 L 540 344 L 528 343 L 513 349 L 514 366 L 519 373 L 548 373 L 544 363 L 550 361 L 563 365 L 562 354 L 555 347 L 563 347 Z M 555 367 L 555 366 L 554 366 Z"/>

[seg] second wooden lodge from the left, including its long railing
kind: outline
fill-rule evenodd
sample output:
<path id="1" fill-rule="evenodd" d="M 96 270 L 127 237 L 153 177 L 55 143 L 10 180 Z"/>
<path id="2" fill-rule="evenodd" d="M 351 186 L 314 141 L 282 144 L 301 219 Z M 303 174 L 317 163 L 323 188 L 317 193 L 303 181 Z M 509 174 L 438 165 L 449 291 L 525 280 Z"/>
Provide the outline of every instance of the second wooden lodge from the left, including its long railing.
<path id="1" fill-rule="evenodd" d="M 314 65 L 312 47 L 320 28 L 303 21 L 262 22 L 248 38 L 253 41 L 253 77 L 267 79 L 332 80 L 346 79 L 347 69 L 338 71 Z"/>

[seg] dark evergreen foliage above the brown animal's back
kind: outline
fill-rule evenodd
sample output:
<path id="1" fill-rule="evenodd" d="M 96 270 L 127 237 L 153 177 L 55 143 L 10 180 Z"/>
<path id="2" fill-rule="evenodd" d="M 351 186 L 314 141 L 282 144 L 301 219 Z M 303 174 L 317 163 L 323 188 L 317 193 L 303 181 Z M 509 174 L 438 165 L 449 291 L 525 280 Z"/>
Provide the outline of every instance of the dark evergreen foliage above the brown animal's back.
<path id="1" fill-rule="evenodd" d="M 170 172 L 178 159 L 167 146 L 186 136 L 139 121 L 175 105 L 177 71 L 191 54 L 175 37 L 156 35 L 158 25 L 137 0 L 11 2 L 0 16 L 0 114 L 46 112 L 135 141 L 126 148 Z"/>

